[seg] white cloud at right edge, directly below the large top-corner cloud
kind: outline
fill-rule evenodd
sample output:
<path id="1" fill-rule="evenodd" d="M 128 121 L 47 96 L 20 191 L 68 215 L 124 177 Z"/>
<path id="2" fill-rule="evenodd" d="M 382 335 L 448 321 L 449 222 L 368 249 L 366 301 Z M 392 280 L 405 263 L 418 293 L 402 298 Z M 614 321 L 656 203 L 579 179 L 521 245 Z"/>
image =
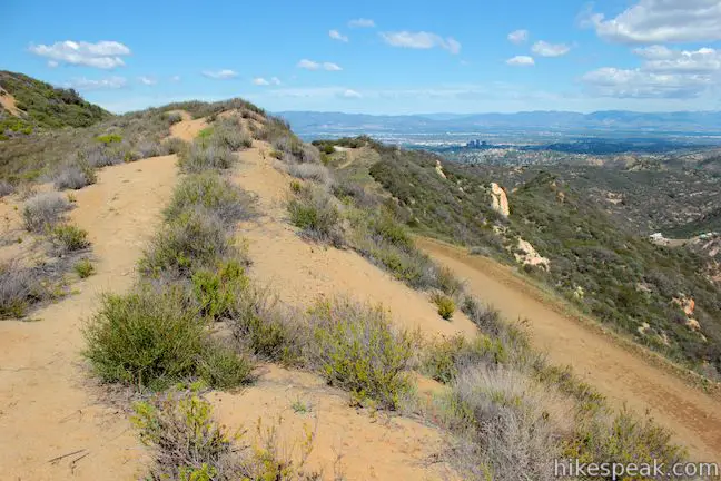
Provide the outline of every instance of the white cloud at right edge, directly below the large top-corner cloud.
<path id="1" fill-rule="evenodd" d="M 642 69 L 654 72 L 711 73 L 721 71 L 721 50 L 672 50 L 663 46 L 638 48 L 633 52 L 646 59 Z"/>

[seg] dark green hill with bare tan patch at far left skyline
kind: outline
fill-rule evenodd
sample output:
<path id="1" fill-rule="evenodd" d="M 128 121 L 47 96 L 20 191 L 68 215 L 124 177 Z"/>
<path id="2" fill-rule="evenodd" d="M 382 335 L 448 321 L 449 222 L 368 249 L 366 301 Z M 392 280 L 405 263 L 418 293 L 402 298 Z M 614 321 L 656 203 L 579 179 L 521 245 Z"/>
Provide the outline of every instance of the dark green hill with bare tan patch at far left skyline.
<path id="1" fill-rule="evenodd" d="M 0 71 L 0 140 L 36 129 L 89 127 L 111 114 L 62 89 L 22 73 Z"/>

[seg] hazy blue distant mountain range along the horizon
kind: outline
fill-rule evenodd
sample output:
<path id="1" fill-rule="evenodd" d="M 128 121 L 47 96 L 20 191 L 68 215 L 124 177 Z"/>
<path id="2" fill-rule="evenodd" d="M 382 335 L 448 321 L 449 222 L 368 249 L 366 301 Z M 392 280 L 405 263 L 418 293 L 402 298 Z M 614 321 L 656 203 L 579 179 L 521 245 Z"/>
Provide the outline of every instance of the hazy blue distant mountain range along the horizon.
<path id="1" fill-rule="evenodd" d="M 633 112 L 625 110 L 579 114 L 570 111 L 527 111 L 517 114 L 427 114 L 374 116 L 365 114 L 283 111 L 302 135 L 437 134 L 555 130 L 566 134 L 678 132 L 721 135 L 721 111 Z"/>

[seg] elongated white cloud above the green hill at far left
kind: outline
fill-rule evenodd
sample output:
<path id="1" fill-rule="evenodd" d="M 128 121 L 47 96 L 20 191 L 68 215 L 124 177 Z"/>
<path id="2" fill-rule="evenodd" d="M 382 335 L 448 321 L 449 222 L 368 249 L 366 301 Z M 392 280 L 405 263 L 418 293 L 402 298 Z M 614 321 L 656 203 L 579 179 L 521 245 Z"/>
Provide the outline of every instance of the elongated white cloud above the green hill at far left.
<path id="1" fill-rule="evenodd" d="M 31 45 L 29 50 L 40 57 L 48 58 L 50 67 L 60 63 L 75 66 L 112 69 L 125 66 L 121 57 L 130 55 L 130 49 L 117 41 L 99 41 L 89 43 L 85 41 L 66 40 L 47 45 Z"/>

